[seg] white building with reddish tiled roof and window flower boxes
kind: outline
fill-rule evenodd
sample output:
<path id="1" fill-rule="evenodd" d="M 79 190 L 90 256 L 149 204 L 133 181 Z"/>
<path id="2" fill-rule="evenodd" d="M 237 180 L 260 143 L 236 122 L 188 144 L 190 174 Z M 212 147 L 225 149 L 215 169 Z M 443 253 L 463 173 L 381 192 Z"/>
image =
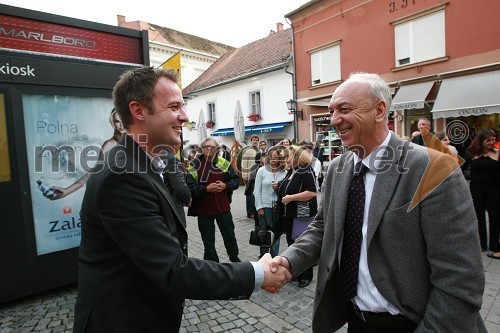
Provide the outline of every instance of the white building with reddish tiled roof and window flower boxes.
<path id="1" fill-rule="evenodd" d="M 293 138 L 293 115 L 286 106 L 292 98 L 291 30 L 280 24 L 277 30 L 226 53 L 183 90 L 189 119 L 197 123 L 184 129 L 186 146 L 198 144 L 206 131 L 231 147 L 238 108 L 245 128 L 240 143 L 248 144 L 252 134 L 268 147 Z"/>

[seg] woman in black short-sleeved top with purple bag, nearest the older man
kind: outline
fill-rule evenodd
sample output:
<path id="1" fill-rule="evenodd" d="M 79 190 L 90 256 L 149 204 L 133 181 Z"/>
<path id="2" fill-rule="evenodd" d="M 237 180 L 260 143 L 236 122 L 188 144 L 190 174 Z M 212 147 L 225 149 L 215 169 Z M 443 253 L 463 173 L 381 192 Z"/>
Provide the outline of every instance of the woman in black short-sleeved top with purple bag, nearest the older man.
<path id="1" fill-rule="evenodd" d="M 290 146 L 288 153 L 289 170 L 279 184 L 278 203 L 283 216 L 283 232 L 290 246 L 316 216 L 318 202 L 311 153 L 297 146 Z M 308 286 L 312 278 L 313 268 L 310 267 L 297 277 L 299 287 Z"/>

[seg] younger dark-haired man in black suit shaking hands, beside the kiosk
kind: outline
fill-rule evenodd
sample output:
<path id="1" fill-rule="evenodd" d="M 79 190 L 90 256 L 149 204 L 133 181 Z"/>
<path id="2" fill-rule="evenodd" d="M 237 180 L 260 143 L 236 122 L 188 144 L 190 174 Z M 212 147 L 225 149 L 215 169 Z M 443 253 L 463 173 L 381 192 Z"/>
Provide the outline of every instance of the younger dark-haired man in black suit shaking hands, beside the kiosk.
<path id="1" fill-rule="evenodd" d="M 187 233 L 159 156 L 186 122 L 172 70 L 125 72 L 113 89 L 126 135 L 96 164 L 80 212 L 82 240 L 74 331 L 178 332 L 185 298 L 248 298 L 290 278 L 262 263 L 187 257 Z M 263 284 L 261 285 L 263 281 Z"/>

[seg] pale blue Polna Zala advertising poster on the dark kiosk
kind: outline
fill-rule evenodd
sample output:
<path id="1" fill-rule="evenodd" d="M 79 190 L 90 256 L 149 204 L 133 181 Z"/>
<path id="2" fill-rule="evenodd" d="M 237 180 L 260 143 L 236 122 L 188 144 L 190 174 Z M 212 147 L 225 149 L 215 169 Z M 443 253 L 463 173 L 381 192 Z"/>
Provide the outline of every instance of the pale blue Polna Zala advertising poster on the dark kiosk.
<path id="1" fill-rule="evenodd" d="M 80 245 L 87 177 L 103 145 L 116 142 L 112 111 L 111 98 L 23 96 L 38 255 Z"/>

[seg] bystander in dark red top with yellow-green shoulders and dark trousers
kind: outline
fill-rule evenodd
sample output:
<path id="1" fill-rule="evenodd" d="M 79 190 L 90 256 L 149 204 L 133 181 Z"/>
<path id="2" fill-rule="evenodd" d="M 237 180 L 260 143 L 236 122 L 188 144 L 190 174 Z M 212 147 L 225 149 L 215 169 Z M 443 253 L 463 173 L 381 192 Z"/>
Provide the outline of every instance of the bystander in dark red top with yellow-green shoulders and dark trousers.
<path id="1" fill-rule="evenodd" d="M 231 198 L 240 178 L 230 161 L 219 156 L 219 146 L 214 139 L 203 139 L 201 148 L 203 153 L 189 163 L 187 184 L 193 197 L 188 215 L 198 216 L 198 229 L 205 246 L 203 259 L 219 262 L 215 249 L 215 220 L 229 260 L 240 262 L 231 215 Z"/>

